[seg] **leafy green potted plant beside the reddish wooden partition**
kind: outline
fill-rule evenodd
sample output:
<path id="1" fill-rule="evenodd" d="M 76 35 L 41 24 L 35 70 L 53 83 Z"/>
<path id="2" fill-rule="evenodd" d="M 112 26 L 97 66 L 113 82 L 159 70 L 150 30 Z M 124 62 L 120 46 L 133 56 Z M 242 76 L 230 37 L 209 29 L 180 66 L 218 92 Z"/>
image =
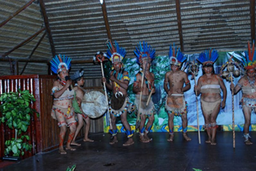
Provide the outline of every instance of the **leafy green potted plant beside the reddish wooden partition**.
<path id="1" fill-rule="evenodd" d="M 30 137 L 21 135 L 21 131 L 26 132 L 30 125 L 30 114 L 36 110 L 30 108 L 29 105 L 36 100 L 28 90 L 18 89 L 18 92 L 1 94 L 0 101 L 2 102 L 0 124 L 5 123 L 10 129 L 15 129 L 15 138 L 5 141 L 4 155 L 6 157 L 3 159 L 18 160 L 20 155 L 24 155 L 24 150 L 31 151 L 32 148 L 32 145 L 27 142 Z M 13 157 L 8 156 L 10 152 L 13 153 Z"/>

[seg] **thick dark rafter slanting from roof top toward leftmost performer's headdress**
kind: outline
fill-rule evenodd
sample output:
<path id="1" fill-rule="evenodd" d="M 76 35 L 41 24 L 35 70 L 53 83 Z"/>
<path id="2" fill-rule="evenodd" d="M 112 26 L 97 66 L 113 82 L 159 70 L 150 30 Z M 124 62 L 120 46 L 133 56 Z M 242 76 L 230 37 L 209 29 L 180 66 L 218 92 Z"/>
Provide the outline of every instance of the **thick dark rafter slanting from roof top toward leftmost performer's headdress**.
<path id="1" fill-rule="evenodd" d="M 42 12 L 42 15 L 43 15 L 43 18 L 44 18 L 46 31 L 48 33 L 48 38 L 49 38 L 49 43 L 50 43 L 51 50 L 52 50 L 52 55 L 55 56 L 56 52 L 55 52 L 55 47 L 54 47 L 54 43 L 53 43 L 53 38 L 52 38 L 52 33 L 51 33 L 47 13 L 46 13 L 46 10 L 45 10 L 45 4 L 44 4 L 43 0 L 40 0 L 39 3 L 40 3 L 41 12 Z"/>

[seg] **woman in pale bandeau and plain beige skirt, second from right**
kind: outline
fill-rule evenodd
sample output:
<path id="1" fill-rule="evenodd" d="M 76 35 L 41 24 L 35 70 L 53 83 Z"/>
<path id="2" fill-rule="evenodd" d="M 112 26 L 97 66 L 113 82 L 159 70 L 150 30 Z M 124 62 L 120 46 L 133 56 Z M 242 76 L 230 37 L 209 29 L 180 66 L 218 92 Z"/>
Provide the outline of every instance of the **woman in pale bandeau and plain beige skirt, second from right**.
<path id="1" fill-rule="evenodd" d="M 204 129 L 208 134 L 206 143 L 216 145 L 215 136 L 217 130 L 216 118 L 220 106 L 225 107 L 227 90 L 221 77 L 214 73 L 213 64 L 218 58 L 216 50 L 206 50 L 200 53 L 198 61 L 202 63 L 203 75 L 198 79 L 194 91 L 197 95 L 201 93 L 201 109 L 204 116 Z M 221 102 L 220 89 L 223 92 Z"/>

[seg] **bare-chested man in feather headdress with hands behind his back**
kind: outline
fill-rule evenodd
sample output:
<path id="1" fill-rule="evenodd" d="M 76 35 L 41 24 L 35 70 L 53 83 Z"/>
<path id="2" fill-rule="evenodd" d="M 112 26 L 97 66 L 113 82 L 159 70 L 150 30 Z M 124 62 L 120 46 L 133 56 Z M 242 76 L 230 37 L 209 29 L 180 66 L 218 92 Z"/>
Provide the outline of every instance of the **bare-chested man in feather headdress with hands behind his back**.
<path id="1" fill-rule="evenodd" d="M 164 80 L 164 89 L 167 93 L 166 96 L 166 111 L 168 113 L 168 126 L 169 126 L 169 138 L 167 141 L 173 141 L 173 119 L 174 116 L 181 116 L 183 137 L 185 140 L 190 141 L 191 138 L 187 136 L 187 102 L 184 99 L 184 91 L 190 89 L 190 81 L 187 73 L 181 70 L 183 62 L 186 61 L 186 57 L 180 51 L 177 50 L 175 45 L 169 47 L 169 62 L 171 65 L 171 71 L 166 72 Z M 168 89 L 169 84 L 169 89 Z M 185 86 L 183 87 L 183 85 Z"/>

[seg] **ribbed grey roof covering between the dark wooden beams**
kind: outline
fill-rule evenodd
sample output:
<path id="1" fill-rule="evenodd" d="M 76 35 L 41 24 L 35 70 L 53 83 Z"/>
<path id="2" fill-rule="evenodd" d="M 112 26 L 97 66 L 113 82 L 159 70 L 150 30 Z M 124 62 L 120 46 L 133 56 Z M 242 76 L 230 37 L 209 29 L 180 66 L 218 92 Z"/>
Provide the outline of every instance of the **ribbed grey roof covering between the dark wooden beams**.
<path id="1" fill-rule="evenodd" d="M 4 21 L 29 0 L 0 0 Z M 106 52 L 108 40 L 102 7 L 98 0 L 44 0 L 56 54 L 72 60 L 91 60 L 97 51 Z M 156 55 L 167 55 L 169 45 L 180 46 L 175 1 L 105 0 L 112 41 L 134 57 L 139 41 L 147 41 Z M 209 47 L 219 51 L 245 50 L 251 40 L 250 2 L 244 0 L 180 0 L 184 53 L 198 53 Z M 44 26 L 40 5 L 34 1 L 0 28 L 0 53 L 4 54 Z M 10 58 L 28 58 L 44 32 L 16 49 Z M 52 57 L 46 36 L 31 59 Z M 21 71 L 25 63 L 19 63 Z M 71 73 L 83 68 L 85 77 L 101 77 L 99 65 L 74 64 Z M 2 62 L 0 74 L 10 74 L 9 62 Z M 29 63 L 24 74 L 47 74 L 46 63 Z"/>

